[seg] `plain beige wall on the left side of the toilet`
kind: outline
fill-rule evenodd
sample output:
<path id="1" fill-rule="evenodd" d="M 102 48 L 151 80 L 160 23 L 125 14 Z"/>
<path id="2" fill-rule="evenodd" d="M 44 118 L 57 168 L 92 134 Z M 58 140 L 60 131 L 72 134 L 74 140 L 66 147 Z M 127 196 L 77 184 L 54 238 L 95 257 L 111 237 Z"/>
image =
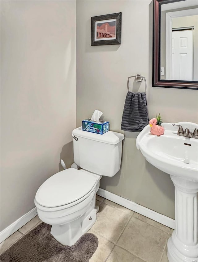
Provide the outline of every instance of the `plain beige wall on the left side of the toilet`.
<path id="1" fill-rule="evenodd" d="M 76 2 L 1 1 L 1 230 L 73 162 Z"/>

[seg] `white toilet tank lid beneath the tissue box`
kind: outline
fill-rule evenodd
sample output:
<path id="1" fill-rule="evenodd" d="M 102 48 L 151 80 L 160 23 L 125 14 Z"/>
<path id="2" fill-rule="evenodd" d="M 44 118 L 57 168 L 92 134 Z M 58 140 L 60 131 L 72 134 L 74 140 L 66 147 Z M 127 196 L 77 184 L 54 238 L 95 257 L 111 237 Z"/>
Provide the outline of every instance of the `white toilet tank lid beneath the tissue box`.
<path id="1" fill-rule="evenodd" d="M 116 145 L 124 139 L 124 135 L 118 132 L 108 131 L 105 134 L 100 135 L 92 132 L 83 131 L 82 127 L 74 129 L 72 131 L 72 134 L 76 137 L 79 136 L 111 145 Z"/>

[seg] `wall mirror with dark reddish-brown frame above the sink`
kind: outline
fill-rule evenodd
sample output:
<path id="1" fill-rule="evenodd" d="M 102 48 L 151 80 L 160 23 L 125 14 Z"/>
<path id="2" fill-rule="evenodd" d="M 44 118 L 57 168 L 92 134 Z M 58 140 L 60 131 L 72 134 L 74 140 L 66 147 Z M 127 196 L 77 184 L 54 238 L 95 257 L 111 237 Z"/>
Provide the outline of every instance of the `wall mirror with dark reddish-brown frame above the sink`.
<path id="1" fill-rule="evenodd" d="M 153 0 L 153 86 L 198 89 L 197 0 Z"/>

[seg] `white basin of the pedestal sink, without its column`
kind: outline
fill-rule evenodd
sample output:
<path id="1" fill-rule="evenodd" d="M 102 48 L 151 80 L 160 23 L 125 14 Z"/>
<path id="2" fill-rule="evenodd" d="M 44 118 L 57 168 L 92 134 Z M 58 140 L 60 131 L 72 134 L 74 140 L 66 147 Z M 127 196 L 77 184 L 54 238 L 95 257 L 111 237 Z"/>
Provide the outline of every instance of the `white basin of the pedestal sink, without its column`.
<path id="1" fill-rule="evenodd" d="M 180 122 L 183 128 L 197 124 Z M 163 123 L 164 135 L 150 134 L 150 126 L 144 127 L 136 139 L 136 146 L 146 160 L 158 169 L 187 180 L 198 181 L 198 139 L 177 135 L 178 127 Z"/>

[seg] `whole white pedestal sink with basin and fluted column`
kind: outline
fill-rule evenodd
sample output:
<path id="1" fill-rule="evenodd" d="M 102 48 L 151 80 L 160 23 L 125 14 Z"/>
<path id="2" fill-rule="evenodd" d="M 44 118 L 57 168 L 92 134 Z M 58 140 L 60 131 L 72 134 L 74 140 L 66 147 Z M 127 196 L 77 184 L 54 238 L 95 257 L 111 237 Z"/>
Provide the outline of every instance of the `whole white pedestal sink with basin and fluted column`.
<path id="1" fill-rule="evenodd" d="M 191 132 L 195 123 L 180 122 Z M 149 125 L 136 139 L 146 160 L 170 174 L 175 187 L 175 230 L 167 243 L 170 262 L 198 261 L 198 139 L 177 135 L 178 127 L 163 123 L 164 135 L 150 134 Z"/>

